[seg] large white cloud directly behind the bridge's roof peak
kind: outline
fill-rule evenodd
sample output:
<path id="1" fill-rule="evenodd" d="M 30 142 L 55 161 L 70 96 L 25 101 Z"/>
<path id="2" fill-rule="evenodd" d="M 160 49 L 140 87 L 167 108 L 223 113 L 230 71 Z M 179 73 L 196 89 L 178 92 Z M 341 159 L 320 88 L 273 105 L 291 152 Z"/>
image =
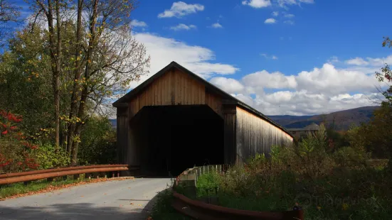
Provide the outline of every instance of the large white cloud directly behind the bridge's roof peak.
<path id="1" fill-rule="evenodd" d="M 171 61 L 176 61 L 197 75 L 208 79 L 216 75 L 231 75 L 239 69 L 233 65 L 213 62 L 215 54 L 208 48 L 188 45 L 173 38 L 164 38 L 152 33 L 134 33 L 134 37 L 147 48 L 151 56 L 149 75 L 142 76 L 138 82 L 132 82 L 134 88 L 151 77 Z"/>

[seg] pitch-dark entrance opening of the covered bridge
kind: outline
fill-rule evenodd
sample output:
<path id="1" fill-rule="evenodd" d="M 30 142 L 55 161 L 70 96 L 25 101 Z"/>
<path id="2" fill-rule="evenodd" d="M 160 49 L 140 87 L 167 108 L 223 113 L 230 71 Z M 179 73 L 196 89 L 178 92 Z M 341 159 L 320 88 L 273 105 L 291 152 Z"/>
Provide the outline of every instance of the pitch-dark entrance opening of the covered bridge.
<path id="1" fill-rule="evenodd" d="M 144 174 L 176 176 L 194 165 L 223 164 L 223 119 L 209 106 L 144 106 L 130 123 L 137 153 L 128 157 Z"/>

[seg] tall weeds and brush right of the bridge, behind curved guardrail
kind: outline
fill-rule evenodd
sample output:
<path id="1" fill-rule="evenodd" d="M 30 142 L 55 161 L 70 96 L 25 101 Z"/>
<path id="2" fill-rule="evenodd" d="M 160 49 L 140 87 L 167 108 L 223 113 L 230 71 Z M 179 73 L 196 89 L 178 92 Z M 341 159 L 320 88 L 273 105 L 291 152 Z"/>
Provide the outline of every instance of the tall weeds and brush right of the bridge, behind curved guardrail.
<path id="1" fill-rule="evenodd" d="M 254 211 L 299 206 L 306 219 L 392 219 L 387 161 L 369 160 L 363 148 L 334 149 L 324 128 L 299 145 L 272 146 L 225 174 L 198 178 L 198 197 L 218 188 L 218 204 Z"/>

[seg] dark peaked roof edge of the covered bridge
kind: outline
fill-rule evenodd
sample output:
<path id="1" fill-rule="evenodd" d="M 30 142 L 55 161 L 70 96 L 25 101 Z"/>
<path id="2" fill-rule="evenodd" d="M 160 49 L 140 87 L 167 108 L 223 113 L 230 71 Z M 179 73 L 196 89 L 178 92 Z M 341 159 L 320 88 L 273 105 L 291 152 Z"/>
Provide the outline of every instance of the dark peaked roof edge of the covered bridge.
<path id="1" fill-rule="evenodd" d="M 186 74 L 188 74 L 191 77 L 193 77 L 194 79 L 196 79 L 198 82 L 201 82 L 202 84 L 204 84 L 206 89 L 208 89 L 209 91 L 211 91 L 211 92 L 213 92 L 215 94 L 221 95 L 221 97 L 223 97 L 223 100 L 225 101 L 224 103 L 236 104 L 237 106 L 240 106 L 243 109 L 252 112 L 256 116 L 260 117 L 261 119 L 264 119 L 265 121 L 268 121 L 272 125 L 276 126 L 277 128 L 282 129 L 282 131 L 285 131 L 285 133 L 287 133 L 290 136 L 292 136 L 292 133 L 290 133 L 285 128 L 280 126 L 280 124 L 276 123 L 275 121 L 272 121 L 272 119 L 270 119 L 267 116 L 265 116 L 265 114 L 262 114 L 260 111 L 258 111 L 256 109 L 253 109 L 252 107 L 248 106 L 248 104 L 245 104 L 243 101 L 235 99 L 235 97 L 233 97 L 231 94 L 228 94 L 227 92 L 224 92 L 222 89 L 219 89 L 218 87 L 214 86 L 210 82 L 206 81 L 206 79 L 203 79 L 203 78 L 199 77 L 198 75 L 194 74 L 194 72 L 191 72 L 190 70 L 186 69 L 185 67 L 179 65 L 177 62 L 174 62 L 174 61 L 170 62 L 169 65 L 164 67 L 162 70 L 159 70 L 159 72 L 157 72 L 156 74 L 152 75 L 152 77 L 149 77 L 149 79 L 144 81 L 142 84 L 139 84 L 139 86 L 135 87 L 130 92 L 125 94 L 123 97 L 121 97 L 120 99 L 115 101 L 112 104 L 112 106 L 114 106 L 114 107 L 125 107 L 125 106 L 128 106 L 128 102 L 133 97 L 135 97 L 144 88 L 149 86 L 149 84 L 154 82 L 155 79 L 157 79 L 161 75 L 164 75 L 164 73 L 166 73 L 169 70 L 171 70 L 171 68 L 177 68 L 181 72 L 185 72 Z"/>

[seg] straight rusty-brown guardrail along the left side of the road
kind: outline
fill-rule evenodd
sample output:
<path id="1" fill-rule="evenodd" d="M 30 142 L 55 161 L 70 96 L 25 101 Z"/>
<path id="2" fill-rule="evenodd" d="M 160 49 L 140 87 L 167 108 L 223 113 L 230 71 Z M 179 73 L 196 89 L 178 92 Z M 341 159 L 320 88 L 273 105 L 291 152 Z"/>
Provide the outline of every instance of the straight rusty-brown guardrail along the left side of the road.
<path id="1" fill-rule="evenodd" d="M 0 175 L 0 185 L 11 184 L 16 182 L 28 182 L 32 180 L 41 180 L 53 177 L 63 177 L 66 175 L 78 175 L 83 173 L 94 172 L 120 172 L 122 170 L 139 170 L 137 166 L 123 164 L 117 165 L 88 165 L 78 167 L 62 167 L 48 170 L 33 170 L 27 172 L 13 172 Z M 118 176 L 118 174 L 117 174 Z"/>

